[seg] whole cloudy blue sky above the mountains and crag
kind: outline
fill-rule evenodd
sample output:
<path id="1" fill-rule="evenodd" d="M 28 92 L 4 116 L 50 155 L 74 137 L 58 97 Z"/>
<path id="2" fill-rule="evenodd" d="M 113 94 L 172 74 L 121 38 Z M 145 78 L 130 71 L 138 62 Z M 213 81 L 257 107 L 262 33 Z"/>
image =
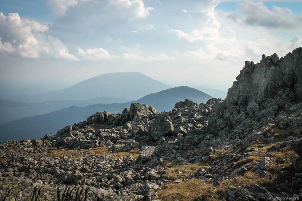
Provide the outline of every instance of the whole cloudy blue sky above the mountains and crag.
<path id="1" fill-rule="evenodd" d="M 0 0 L 0 85 L 66 88 L 108 72 L 227 90 L 246 60 L 302 46 L 302 1 Z"/>

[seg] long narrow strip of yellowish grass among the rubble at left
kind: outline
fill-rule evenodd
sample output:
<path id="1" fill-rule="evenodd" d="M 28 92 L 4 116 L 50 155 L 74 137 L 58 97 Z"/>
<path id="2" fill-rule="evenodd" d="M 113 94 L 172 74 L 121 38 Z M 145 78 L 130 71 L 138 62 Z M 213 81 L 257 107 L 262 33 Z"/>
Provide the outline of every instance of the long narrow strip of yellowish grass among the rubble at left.
<path id="1" fill-rule="evenodd" d="M 85 155 L 82 155 L 85 153 Z M 130 150 L 129 152 L 110 152 L 108 151 L 108 148 L 103 146 L 103 147 L 98 147 L 98 148 L 93 148 L 90 150 L 87 149 L 57 149 L 57 148 L 51 148 L 47 150 L 48 156 L 54 158 L 63 158 L 64 156 L 69 157 L 68 160 L 74 161 L 78 160 L 79 158 L 86 157 L 86 156 L 92 156 L 92 155 L 112 155 L 112 158 L 117 159 L 120 156 L 125 157 L 132 155 L 133 159 L 136 159 L 140 155 L 140 149 L 136 148 L 133 150 Z"/>

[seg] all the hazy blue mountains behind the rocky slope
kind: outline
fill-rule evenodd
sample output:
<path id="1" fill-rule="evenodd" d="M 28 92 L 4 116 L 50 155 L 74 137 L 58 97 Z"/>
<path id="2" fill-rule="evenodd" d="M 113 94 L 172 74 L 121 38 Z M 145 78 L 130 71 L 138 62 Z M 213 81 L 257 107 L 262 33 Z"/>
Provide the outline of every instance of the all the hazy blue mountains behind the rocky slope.
<path id="1" fill-rule="evenodd" d="M 173 88 L 138 72 L 107 73 L 57 91 L 0 99 L 0 141 L 55 134 L 97 111 L 120 113 L 132 102 L 149 104 L 162 112 L 171 111 L 175 103 L 186 98 L 201 103 L 211 97 L 224 99 L 226 92 L 205 87 Z"/>

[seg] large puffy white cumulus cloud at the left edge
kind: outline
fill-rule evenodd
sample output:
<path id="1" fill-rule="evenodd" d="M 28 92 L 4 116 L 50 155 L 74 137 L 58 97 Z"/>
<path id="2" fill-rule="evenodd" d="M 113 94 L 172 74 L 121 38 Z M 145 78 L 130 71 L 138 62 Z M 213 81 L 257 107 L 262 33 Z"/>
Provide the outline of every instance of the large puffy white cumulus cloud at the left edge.
<path id="1" fill-rule="evenodd" d="M 0 50 L 24 58 L 40 56 L 78 60 L 69 54 L 66 46 L 56 37 L 46 35 L 48 26 L 20 18 L 18 13 L 5 16 L 0 13 Z"/>

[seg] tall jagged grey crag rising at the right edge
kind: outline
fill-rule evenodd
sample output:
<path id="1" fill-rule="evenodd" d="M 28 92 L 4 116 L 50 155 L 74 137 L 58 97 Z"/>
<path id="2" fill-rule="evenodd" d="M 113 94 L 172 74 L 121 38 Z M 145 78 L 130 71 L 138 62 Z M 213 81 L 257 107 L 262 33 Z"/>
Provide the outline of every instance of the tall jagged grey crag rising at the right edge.
<path id="1" fill-rule="evenodd" d="M 281 59 L 263 54 L 259 63 L 246 61 L 236 80 L 223 101 L 221 117 L 246 113 L 260 120 L 267 116 L 262 110 L 288 110 L 302 101 L 302 48 Z"/>

